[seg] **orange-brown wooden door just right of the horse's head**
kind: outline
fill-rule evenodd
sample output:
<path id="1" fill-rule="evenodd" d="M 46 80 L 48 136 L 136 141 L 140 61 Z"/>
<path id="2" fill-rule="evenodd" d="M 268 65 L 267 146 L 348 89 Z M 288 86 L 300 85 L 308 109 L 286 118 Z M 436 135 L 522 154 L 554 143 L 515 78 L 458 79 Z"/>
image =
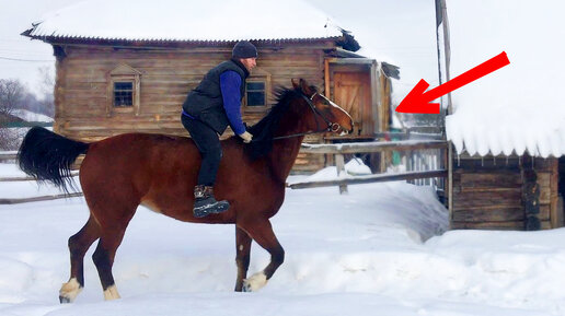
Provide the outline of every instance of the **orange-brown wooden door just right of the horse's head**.
<path id="1" fill-rule="evenodd" d="M 354 119 L 354 136 L 374 132 L 370 82 L 369 72 L 334 72 L 334 101 Z"/>

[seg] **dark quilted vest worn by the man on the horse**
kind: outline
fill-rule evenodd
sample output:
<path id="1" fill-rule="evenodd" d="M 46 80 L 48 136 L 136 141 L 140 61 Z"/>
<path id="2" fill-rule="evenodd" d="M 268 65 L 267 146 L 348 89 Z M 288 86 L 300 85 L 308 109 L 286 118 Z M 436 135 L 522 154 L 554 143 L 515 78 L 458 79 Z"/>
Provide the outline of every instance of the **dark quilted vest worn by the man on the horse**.
<path id="1" fill-rule="evenodd" d="M 196 89 L 188 93 L 183 104 L 183 110 L 196 119 L 210 126 L 219 134 L 228 128 L 229 120 L 223 109 L 223 98 L 220 90 L 220 74 L 233 70 L 241 75 L 241 98 L 245 93 L 245 79 L 249 72 L 243 65 L 227 60 L 210 69 Z"/>

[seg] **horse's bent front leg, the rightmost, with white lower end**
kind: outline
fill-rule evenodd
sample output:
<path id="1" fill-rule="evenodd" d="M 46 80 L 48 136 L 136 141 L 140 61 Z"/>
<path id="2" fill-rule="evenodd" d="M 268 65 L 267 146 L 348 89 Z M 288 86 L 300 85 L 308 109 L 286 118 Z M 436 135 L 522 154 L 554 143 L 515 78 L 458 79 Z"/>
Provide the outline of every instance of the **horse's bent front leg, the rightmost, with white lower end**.
<path id="1" fill-rule="evenodd" d="M 254 221 L 244 226 L 250 236 L 270 254 L 270 262 L 263 271 L 243 280 L 243 291 L 254 292 L 267 284 L 275 271 L 285 261 L 285 249 L 277 241 L 268 220 Z"/>

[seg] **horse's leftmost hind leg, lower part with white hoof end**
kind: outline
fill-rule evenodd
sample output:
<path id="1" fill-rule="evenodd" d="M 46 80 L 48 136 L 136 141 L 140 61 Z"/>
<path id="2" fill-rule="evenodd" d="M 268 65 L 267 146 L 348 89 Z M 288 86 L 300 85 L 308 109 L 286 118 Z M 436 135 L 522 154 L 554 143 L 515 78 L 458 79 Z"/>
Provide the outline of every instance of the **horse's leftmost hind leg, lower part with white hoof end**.
<path id="1" fill-rule="evenodd" d="M 59 291 L 61 303 L 71 303 L 84 288 L 84 254 L 100 236 L 100 226 L 91 216 L 87 224 L 69 238 L 69 251 L 71 261 L 70 278 Z"/>

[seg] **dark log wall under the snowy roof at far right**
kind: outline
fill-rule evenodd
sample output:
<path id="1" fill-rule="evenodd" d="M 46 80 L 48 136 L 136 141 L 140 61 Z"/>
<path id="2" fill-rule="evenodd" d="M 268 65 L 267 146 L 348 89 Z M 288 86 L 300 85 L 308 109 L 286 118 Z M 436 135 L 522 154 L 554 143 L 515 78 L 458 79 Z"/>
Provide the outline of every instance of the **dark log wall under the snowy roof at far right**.
<path id="1" fill-rule="evenodd" d="M 453 161 L 452 202 L 452 229 L 563 226 L 557 160 L 461 155 Z"/>

